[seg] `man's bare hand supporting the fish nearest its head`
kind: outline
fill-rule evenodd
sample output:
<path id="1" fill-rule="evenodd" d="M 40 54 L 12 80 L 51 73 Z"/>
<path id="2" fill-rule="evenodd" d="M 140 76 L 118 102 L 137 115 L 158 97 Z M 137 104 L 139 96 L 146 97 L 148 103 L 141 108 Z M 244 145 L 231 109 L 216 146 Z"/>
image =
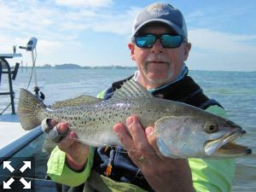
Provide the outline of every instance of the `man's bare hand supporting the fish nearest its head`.
<path id="1" fill-rule="evenodd" d="M 166 158 L 160 154 L 154 127 L 149 126 L 144 131 L 136 116 L 126 119 L 126 125 L 131 137 L 125 125 L 120 123 L 113 127 L 113 131 L 154 190 L 195 191 L 188 160 Z"/>

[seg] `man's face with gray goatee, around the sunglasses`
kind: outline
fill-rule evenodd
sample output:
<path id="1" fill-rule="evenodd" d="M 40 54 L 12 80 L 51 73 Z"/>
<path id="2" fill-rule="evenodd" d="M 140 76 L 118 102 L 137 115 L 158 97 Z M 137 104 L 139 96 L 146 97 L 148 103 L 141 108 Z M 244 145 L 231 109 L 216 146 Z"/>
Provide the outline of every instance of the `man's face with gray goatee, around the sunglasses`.
<path id="1" fill-rule="evenodd" d="M 156 25 L 145 26 L 141 33 L 172 34 L 174 32 L 167 26 Z M 160 43 L 160 39 L 157 39 L 152 48 L 139 48 L 135 43 L 128 46 L 131 49 L 132 60 L 137 62 L 137 68 L 142 73 L 144 83 L 160 86 L 177 78 L 182 71 L 183 61 L 188 58 L 191 45 L 183 43 L 178 48 L 166 49 Z"/>

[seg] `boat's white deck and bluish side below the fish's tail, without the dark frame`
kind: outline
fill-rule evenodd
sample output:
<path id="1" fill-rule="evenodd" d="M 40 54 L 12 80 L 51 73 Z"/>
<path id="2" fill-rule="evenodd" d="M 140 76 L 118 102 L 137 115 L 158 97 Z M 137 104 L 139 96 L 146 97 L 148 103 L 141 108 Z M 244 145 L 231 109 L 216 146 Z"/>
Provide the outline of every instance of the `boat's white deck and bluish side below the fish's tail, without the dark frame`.
<path id="1" fill-rule="evenodd" d="M 0 115 L 0 131 L 0 170 L 3 169 L 4 160 L 11 161 L 11 165 L 15 168 L 15 172 L 12 173 L 6 169 L 1 172 L 0 191 L 3 189 L 3 181 L 7 182 L 10 177 L 16 180 L 25 177 L 27 182 L 32 181 L 32 189 L 34 189 L 32 191 L 59 191 L 61 185 L 51 181 L 46 173 L 49 153 L 54 146 L 50 146 L 49 149 L 49 142 L 45 140 L 41 127 L 24 131 L 17 116 L 8 113 Z M 34 158 L 34 175 L 17 172 L 23 166 L 23 160 L 31 157 Z M 22 187 L 20 183 L 11 184 L 12 191 L 20 191 L 20 187 Z"/>

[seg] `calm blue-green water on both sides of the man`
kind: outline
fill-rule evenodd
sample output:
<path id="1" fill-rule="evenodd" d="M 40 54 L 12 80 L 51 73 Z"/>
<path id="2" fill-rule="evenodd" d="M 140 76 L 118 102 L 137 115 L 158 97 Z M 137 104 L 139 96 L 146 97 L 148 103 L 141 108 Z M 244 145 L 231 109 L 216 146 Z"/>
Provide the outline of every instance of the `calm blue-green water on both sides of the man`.
<path id="1" fill-rule="evenodd" d="M 15 102 L 19 89 L 26 88 L 30 69 L 24 69 L 14 82 Z M 38 86 L 50 104 L 82 94 L 96 96 L 113 81 L 134 73 L 132 69 L 37 69 Z M 241 125 L 247 136 L 240 143 L 253 148 L 253 155 L 236 159 L 236 177 L 232 191 L 256 191 L 256 73 L 190 71 L 207 96 L 216 99 L 226 109 L 229 118 Z M 33 90 L 32 79 L 29 90 Z M 3 75 L 0 91 L 7 90 L 7 77 Z M 0 96 L 0 113 L 9 104 L 9 96 Z M 8 111 L 10 112 L 10 110 Z M 7 113 L 8 113 L 7 112 Z"/>

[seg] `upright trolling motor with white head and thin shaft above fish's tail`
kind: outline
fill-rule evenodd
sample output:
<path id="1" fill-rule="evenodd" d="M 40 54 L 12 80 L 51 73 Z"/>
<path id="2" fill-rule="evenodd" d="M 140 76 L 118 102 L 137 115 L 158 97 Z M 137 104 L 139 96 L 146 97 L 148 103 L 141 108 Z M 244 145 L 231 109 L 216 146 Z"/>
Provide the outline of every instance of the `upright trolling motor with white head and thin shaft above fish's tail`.
<path id="1" fill-rule="evenodd" d="M 37 59 L 37 49 L 36 49 L 36 45 L 38 43 L 38 38 L 30 38 L 28 43 L 26 44 L 26 47 L 24 46 L 20 46 L 19 48 L 20 49 L 26 49 L 26 51 L 31 51 L 32 53 L 32 73 L 34 73 L 34 79 L 35 79 L 35 88 L 34 88 L 34 91 L 35 91 L 35 95 L 38 96 L 38 98 L 44 100 L 45 96 L 44 96 L 44 93 L 42 91 L 40 91 L 40 96 L 39 96 L 39 87 L 38 87 L 38 79 L 37 79 L 37 73 L 36 73 L 36 67 L 35 67 L 35 64 L 36 64 L 36 59 Z M 35 51 L 35 55 L 34 55 L 34 51 Z M 31 82 L 31 79 L 32 79 L 32 75 L 31 75 L 31 78 L 29 80 L 29 84 Z M 29 87 L 29 84 L 27 85 L 27 88 Z"/>

